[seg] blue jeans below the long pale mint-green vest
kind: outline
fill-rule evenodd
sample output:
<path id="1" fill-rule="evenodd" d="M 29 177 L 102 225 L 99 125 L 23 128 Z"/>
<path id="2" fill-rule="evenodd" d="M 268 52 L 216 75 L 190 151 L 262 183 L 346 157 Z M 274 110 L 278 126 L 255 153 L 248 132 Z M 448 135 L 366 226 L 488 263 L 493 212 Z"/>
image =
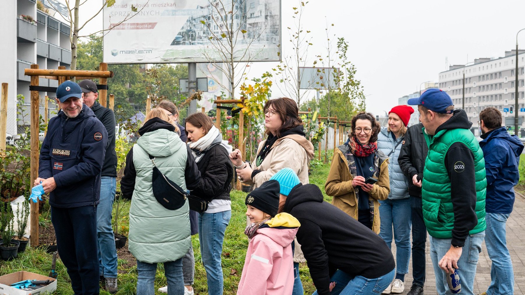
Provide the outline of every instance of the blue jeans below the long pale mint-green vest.
<path id="1" fill-rule="evenodd" d="M 137 260 L 137 294 L 155 295 L 155 274 L 157 264 L 149 264 Z M 164 275 L 167 280 L 168 295 L 184 295 L 184 283 L 182 279 L 182 258 L 175 261 L 164 262 Z"/>

